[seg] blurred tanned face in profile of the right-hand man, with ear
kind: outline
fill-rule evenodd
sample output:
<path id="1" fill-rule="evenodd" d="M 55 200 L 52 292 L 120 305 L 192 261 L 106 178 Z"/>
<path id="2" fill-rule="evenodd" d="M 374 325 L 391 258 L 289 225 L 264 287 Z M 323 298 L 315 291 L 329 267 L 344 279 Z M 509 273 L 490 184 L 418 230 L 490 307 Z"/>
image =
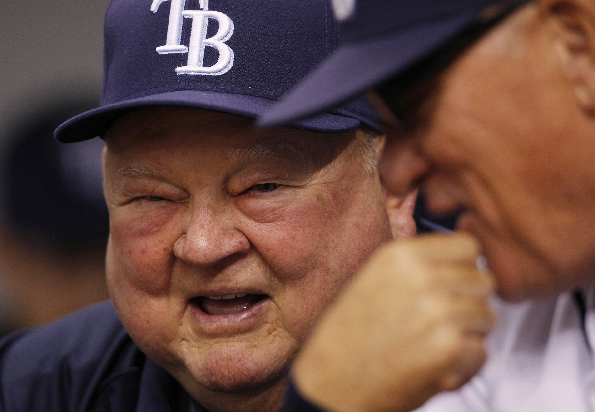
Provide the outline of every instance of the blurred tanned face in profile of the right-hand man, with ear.
<path id="1" fill-rule="evenodd" d="M 481 239 L 508 299 L 595 270 L 594 9 L 518 11 L 443 74 L 419 123 L 389 133 L 387 188 L 422 182 L 435 213 L 463 208 L 459 227 Z"/>

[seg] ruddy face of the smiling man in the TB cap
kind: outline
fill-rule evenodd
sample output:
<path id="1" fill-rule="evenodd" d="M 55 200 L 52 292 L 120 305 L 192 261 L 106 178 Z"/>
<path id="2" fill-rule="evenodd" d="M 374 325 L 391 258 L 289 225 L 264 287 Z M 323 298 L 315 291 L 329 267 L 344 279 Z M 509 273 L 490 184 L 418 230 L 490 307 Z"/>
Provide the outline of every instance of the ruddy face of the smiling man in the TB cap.
<path id="1" fill-rule="evenodd" d="M 365 139 L 186 108 L 137 110 L 108 133 L 109 291 L 196 398 L 280 379 L 371 252 L 414 233 L 412 196 L 386 202 Z"/>

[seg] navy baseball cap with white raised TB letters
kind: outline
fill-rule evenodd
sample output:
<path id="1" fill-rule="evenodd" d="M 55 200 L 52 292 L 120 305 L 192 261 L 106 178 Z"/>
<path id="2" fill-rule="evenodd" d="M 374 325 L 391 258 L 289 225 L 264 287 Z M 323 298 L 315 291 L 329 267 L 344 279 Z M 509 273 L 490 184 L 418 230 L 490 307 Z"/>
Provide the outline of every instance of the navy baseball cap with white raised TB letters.
<path id="1" fill-rule="evenodd" d="M 55 137 L 102 136 L 126 111 L 155 105 L 256 118 L 337 46 L 330 0 L 112 0 L 101 105 Z M 360 96 L 288 126 L 333 133 L 362 124 L 380 129 Z"/>

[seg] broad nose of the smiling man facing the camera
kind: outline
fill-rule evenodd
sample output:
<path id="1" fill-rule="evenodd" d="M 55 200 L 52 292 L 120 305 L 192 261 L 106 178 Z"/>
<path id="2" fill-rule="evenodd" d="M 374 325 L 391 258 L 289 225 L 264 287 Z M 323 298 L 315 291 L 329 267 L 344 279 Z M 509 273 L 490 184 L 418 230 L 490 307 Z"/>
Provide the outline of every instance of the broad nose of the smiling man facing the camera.
<path id="1" fill-rule="evenodd" d="M 193 211 L 186 233 L 174 244 L 177 258 L 201 267 L 215 266 L 249 250 L 250 241 L 234 227 L 231 216 L 209 207 Z"/>

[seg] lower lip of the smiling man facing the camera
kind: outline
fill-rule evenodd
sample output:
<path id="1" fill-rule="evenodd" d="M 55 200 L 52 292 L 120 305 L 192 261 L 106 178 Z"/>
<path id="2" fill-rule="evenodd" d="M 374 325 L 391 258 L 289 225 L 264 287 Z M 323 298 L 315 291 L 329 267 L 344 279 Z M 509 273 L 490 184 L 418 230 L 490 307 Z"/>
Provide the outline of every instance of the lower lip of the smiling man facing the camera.
<path id="1" fill-rule="evenodd" d="M 189 307 L 202 333 L 221 335 L 221 333 L 248 332 L 253 329 L 265 316 L 267 307 L 272 304 L 271 298 L 267 297 L 253 304 L 248 310 L 227 315 L 209 315 L 198 304 L 190 303 Z"/>

